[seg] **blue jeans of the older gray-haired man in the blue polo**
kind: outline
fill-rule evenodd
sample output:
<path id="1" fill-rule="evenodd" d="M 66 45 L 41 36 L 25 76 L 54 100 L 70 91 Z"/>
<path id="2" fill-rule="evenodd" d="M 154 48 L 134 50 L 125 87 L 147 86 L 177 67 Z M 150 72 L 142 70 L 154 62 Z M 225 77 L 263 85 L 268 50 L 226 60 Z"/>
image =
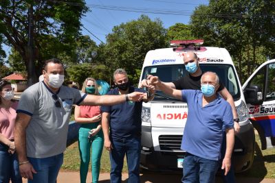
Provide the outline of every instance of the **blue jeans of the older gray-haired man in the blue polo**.
<path id="1" fill-rule="evenodd" d="M 208 160 L 186 152 L 184 157 L 184 183 L 214 183 L 219 160 Z"/>

